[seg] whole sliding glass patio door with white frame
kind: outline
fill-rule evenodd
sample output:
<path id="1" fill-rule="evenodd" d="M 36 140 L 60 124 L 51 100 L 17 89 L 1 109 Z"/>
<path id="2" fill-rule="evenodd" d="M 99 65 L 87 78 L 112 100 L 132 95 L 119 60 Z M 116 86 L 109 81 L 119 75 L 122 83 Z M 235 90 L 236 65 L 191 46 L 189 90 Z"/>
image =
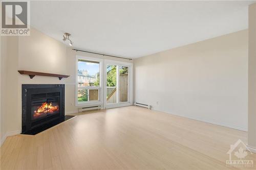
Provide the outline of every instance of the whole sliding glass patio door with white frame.
<path id="1" fill-rule="evenodd" d="M 132 64 L 105 60 L 105 108 L 132 104 Z"/>

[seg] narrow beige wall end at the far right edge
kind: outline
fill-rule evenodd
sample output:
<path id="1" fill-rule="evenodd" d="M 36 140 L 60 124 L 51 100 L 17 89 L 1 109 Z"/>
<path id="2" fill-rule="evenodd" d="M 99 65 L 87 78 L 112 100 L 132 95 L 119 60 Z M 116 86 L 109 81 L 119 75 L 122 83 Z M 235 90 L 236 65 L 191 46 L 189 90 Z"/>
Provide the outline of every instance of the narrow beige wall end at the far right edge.
<path id="1" fill-rule="evenodd" d="M 249 6 L 248 148 L 256 153 L 256 3 Z"/>

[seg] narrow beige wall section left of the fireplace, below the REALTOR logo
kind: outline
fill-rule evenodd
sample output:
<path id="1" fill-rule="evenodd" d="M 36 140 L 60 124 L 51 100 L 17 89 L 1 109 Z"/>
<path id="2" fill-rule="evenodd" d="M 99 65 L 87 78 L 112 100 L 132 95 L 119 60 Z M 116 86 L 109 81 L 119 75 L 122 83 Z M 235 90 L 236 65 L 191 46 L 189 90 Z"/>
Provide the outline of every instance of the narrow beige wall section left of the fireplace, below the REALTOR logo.
<path id="1" fill-rule="evenodd" d="M 6 120 L 17 113 L 16 105 L 12 106 L 18 101 L 16 98 L 18 92 L 17 47 L 18 38 L 16 36 L 1 38 L 1 143 L 8 133 L 12 134 L 15 129 L 9 130 L 13 119 L 10 119 L 10 122 Z"/>

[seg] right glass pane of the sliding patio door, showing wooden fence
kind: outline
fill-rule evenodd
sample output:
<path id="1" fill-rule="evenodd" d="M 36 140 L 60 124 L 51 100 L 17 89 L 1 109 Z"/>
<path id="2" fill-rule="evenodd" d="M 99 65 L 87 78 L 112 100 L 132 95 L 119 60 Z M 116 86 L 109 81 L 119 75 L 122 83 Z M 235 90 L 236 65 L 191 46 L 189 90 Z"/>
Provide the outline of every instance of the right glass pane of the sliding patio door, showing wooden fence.
<path id="1" fill-rule="evenodd" d="M 128 70 L 129 70 L 129 67 L 119 66 L 119 99 L 120 99 L 120 102 L 128 101 Z"/>

